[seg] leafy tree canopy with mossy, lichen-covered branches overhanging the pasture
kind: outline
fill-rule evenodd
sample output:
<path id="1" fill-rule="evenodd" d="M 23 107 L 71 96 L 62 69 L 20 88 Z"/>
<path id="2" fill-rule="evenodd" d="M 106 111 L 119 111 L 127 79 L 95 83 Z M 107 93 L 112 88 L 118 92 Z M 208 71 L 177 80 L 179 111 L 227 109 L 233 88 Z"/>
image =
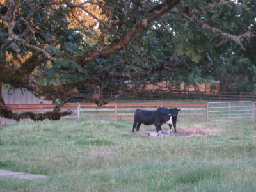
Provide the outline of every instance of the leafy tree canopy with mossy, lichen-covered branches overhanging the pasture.
<path id="1" fill-rule="evenodd" d="M 56 120 L 72 99 L 101 106 L 146 92 L 141 85 L 168 81 L 175 89 L 244 68 L 253 83 L 255 18 L 254 0 L 2 0 L 0 83 L 56 108 L 15 114 L 0 97 L 0 116 Z M 95 95 L 99 88 L 117 94 Z"/>

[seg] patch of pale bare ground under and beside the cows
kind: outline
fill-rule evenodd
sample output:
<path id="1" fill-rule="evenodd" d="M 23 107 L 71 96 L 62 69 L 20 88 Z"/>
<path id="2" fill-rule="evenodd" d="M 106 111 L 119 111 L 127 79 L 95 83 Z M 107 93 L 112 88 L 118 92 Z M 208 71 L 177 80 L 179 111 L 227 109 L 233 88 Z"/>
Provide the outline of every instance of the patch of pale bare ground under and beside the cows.
<path id="1" fill-rule="evenodd" d="M 165 134 L 165 135 L 164 134 L 157 135 L 156 129 L 151 129 L 147 131 L 137 131 L 137 133 L 144 136 L 153 136 L 153 137 L 165 137 L 165 136 L 192 137 L 192 136 L 218 135 L 220 133 L 220 129 L 205 129 L 204 127 L 181 127 L 181 128 L 177 128 L 177 132 L 171 132 L 170 134 Z"/>

